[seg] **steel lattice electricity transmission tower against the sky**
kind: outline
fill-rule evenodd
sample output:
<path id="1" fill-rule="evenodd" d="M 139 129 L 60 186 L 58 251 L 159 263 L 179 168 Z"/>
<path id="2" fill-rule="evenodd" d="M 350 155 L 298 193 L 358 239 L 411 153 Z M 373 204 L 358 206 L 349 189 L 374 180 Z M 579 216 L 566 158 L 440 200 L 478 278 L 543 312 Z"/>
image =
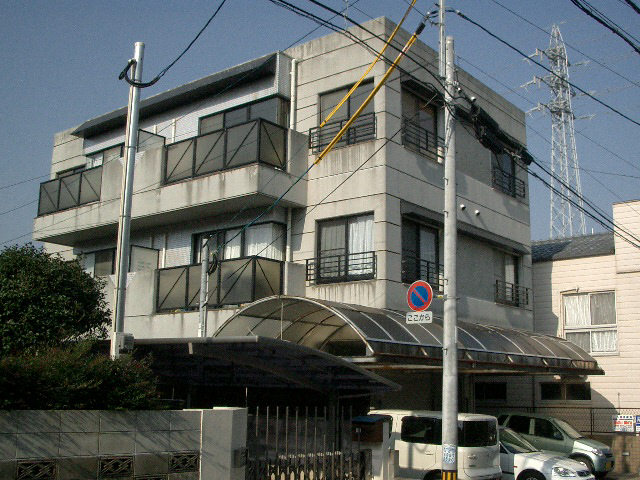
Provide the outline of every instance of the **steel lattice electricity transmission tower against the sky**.
<path id="1" fill-rule="evenodd" d="M 548 110 L 551 114 L 551 217 L 550 238 L 586 233 L 578 152 L 573 127 L 575 116 L 571 107 L 574 92 L 569 85 L 567 50 L 558 25 L 551 29 L 549 48 L 537 52 L 549 60 L 551 74 L 534 78 L 550 89 L 552 98 L 547 104 L 538 104 L 532 110 Z"/>

